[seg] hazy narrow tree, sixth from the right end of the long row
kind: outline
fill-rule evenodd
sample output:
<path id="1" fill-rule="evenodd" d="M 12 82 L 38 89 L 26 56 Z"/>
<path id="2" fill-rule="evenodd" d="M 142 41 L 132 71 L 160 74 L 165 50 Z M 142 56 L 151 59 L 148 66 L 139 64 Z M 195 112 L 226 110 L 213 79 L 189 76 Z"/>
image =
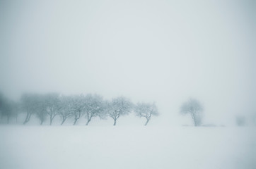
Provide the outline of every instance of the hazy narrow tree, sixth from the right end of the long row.
<path id="1" fill-rule="evenodd" d="M 59 94 L 58 93 L 48 93 L 45 95 L 47 114 L 50 116 L 50 125 L 55 116 L 59 113 L 60 103 L 59 103 Z"/>

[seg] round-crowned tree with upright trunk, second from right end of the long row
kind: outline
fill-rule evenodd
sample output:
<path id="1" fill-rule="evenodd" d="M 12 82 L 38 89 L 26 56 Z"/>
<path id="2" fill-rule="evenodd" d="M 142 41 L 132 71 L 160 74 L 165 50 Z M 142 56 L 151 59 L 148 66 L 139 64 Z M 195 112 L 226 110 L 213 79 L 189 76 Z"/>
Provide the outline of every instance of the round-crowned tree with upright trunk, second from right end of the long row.
<path id="1" fill-rule="evenodd" d="M 129 113 L 131 113 L 132 108 L 132 102 L 129 101 L 129 99 L 120 96 L 112 99 L 112 101 L 108 103 L 107 115 L 114 120 L 114 125 L 116 125 L 117 119 L 120 118 L 121 115 L 128 115 Z"/>

